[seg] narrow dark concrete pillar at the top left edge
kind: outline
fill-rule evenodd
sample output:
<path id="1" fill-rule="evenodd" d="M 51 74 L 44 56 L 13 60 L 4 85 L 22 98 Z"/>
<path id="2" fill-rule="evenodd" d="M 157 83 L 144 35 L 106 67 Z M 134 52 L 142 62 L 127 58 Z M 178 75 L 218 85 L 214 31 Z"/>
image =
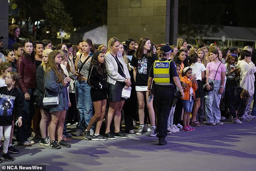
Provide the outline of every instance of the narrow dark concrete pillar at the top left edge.
<path id="1" fill-rule="evenodd" d="M 8 49 L 8 8 L 8 0 L 0 0 L 0 37 L 4 37 L 4 50 Z"/>

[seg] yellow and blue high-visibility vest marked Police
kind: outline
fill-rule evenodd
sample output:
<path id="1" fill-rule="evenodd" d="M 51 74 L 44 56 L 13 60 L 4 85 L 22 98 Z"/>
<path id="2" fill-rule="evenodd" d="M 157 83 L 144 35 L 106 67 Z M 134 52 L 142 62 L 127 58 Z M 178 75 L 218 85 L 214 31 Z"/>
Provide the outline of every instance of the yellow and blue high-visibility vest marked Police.
<path id="1" fill-rule="evenodd" d="M 172 60 L 154 62 L 154 80 L 157 85 L 173 85 L 170 83 L 170 63 Z"/>

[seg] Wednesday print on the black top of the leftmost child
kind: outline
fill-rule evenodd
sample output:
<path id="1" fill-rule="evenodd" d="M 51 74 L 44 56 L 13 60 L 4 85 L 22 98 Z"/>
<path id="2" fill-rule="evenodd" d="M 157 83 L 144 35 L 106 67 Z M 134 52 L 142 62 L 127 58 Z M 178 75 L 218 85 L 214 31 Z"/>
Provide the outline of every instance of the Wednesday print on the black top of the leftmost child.
<path id="1" fill-rule="evenodd" d="M 13 115 L 14 101 L 15 101 L 15 96 L 0 94 L 0 115 L 1 116 Z"/>

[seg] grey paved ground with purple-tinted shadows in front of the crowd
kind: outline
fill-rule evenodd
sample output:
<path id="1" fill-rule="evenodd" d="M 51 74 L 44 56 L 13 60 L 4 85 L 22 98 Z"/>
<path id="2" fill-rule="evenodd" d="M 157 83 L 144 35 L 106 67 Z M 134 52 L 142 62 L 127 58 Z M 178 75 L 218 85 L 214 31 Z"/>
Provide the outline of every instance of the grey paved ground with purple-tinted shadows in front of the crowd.
<path id="1" fill-rule="evenodd" d="M 74 137 L 71 148 L 52 150 L 36 143 L 16 146 L 15 161 L 2 164 L 42 164 L 46 171 L 255 171 L 256 119 L 241 125 L 195 127 L 170 134 L 168 144 L 141 136 L 107 141 Z M 71 129 L 73 131 L 73 129 Z M 35 139 L 38 142 L 39 139 Z"/>

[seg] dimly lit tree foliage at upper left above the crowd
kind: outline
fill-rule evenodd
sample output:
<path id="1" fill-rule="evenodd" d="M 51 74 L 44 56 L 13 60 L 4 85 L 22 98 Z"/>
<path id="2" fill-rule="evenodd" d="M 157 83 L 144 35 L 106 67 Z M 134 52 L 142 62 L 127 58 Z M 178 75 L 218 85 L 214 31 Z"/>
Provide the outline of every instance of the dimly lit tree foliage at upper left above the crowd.
<path id="1" fill-rule="evenodd" d="M 73 30 L 72 18 L 60 0 L 10 0 L 10 12 L 17 23 L 25 21 L 21 28 L 24 37 L 34 36 L 31 36 L 29 29 L 31 30 L 31 24 L 34 25 L 36 21 L 41 21 L 40 29 L 37 29 L 37 39 L 56 38 L 59 29 L 67 32 Z M 50 33 L 47 34 L 46 31 Z"/>

